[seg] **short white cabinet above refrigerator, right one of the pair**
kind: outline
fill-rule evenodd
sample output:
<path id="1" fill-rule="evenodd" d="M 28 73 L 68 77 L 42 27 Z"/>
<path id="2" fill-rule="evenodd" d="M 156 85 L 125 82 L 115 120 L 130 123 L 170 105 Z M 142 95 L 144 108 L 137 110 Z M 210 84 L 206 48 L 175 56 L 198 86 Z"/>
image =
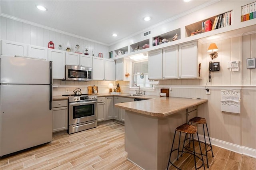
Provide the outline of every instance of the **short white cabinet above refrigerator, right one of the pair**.
<path id="1" fill-rule="evenodd" d="M 36 45 L 28 45 L 28 57 L 42 58 L 48 60 L 48 48 L 39 47 Z"/>

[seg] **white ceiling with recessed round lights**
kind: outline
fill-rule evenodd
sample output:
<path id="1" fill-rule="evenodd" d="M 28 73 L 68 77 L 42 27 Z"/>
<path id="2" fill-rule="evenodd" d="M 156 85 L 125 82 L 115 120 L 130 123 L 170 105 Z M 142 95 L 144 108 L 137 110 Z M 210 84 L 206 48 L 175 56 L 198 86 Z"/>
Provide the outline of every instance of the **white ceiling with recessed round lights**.
<path id="1" fill-rule="evenodd" d="M 165 20 L 218 0 L 0 0 L 1 14 L 76 36 L 114 44 Z M 39 11 L 35 5 L 48 8 Z M 143 18 L 152 19 L 145 22 Z M 113 37 L 112 34 L 118 34 Z"/>

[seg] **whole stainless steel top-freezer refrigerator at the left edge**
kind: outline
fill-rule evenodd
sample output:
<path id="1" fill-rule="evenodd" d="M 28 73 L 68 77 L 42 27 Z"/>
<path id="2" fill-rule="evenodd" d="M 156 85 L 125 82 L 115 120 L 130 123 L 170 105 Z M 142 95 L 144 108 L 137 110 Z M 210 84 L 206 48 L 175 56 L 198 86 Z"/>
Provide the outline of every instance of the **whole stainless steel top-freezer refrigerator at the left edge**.
<path id="1" fill-rule="evenodd" d="M 0 56 L 0 156 L 52 141 L 52 62 Z"/>

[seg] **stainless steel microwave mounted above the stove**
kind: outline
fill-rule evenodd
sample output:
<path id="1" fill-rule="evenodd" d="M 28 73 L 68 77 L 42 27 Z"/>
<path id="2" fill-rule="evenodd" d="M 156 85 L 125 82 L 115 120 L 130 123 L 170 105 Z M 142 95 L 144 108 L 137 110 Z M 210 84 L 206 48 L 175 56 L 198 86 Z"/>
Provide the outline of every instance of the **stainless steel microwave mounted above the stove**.
<path id="1" fill-rule="evenodd" d="M 66 65 L 66 80 L 92 81 L 92 67 Z"/>

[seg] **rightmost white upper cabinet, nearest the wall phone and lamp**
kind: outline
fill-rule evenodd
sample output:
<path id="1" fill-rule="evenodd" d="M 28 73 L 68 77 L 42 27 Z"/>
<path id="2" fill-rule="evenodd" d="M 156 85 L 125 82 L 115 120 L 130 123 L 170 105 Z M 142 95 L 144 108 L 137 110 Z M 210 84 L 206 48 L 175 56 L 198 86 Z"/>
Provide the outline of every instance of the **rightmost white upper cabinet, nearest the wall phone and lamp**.
<path id="1" fill-rule="evenodd" d="M 197 42 L 179 45 L 179 78 L 197 78 L 198 76 Z"/>

